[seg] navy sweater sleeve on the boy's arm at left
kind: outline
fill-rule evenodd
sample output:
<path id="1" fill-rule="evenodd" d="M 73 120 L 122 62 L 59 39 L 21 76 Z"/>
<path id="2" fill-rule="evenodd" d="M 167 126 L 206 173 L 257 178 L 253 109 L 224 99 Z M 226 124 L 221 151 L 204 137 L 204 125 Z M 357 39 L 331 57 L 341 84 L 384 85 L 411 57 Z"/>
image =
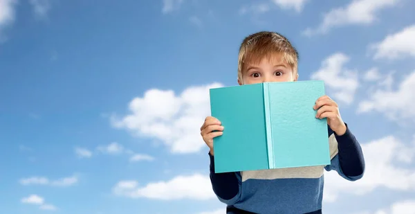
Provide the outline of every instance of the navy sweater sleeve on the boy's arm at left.
<path id="1" fill-rule="evenodd" d="M 214 172 L 214 157 L 210 157 L 210 182 L 213 191 L 219 201 L 233 205 L 238 202 L 241 196 L 241 173 L 240 172 Z"/>

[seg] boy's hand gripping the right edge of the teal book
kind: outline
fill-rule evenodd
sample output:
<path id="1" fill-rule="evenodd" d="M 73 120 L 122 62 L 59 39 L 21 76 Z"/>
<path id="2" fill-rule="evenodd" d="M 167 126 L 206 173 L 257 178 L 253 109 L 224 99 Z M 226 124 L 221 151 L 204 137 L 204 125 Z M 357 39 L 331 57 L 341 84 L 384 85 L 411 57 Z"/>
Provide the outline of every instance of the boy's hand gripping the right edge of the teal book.
<path id="1" fill-rule="evenodd" d="M 338 105 L 329 96 L 324 95 L 318 98 L 313 109 L 318 109 L 315 114 L 316 118 L 327 118 L 327 124 L 335 134 L 343 135 L 346 132 L 347 127 L 340 116 Z"/>

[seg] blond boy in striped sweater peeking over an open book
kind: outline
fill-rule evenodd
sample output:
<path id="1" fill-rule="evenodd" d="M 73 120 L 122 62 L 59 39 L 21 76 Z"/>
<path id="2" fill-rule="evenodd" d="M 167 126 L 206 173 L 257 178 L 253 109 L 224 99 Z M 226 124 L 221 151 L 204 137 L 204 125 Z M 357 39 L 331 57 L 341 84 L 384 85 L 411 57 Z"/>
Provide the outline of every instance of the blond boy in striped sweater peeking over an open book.
<path id="1" fill-rule="evenodd" d="M 286 37 L 272 32 L 249 35 L 239 49 L 238 83 L 297 81 L 297 61 L 298 53 Z M 227 213 L 322 213 L 324 169 L 349 181 L 362 177 L 362 150 L 336 102 L 322 96 L 313 108 L 318 109 L 316 118 L 327 118 L 329 124 L 329 166 L 215 173 L 213 139 L 226 131 L 218 119 L 205 119 L 201 135 L 210 148 L 210 180 L 216 196 L 228 205 Z"/>

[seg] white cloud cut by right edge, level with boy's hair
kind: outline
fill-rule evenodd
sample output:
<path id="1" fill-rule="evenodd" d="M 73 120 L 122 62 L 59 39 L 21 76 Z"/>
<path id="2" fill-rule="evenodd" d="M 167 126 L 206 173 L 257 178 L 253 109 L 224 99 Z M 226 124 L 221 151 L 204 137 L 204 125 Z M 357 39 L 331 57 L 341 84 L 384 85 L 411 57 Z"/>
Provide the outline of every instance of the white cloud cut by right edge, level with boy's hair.
<path id="1" fill-rule="evenodd" d="M 376 60 L 397 60 L 404 57 L 415 57 L 415 25 L 387 35 L 381 42 L 372 44 L 371 48 L 376 51 L 374 55 Z"/>

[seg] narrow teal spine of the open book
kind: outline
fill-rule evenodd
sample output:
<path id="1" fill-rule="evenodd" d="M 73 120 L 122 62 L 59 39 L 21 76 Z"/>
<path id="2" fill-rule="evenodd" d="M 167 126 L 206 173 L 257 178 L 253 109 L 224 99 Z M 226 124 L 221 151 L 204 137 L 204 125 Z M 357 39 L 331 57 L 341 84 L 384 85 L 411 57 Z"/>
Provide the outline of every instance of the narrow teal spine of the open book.
<path id="1" fill-rule="evenodd" d="M 266 134 L 266 145 L 268 152 L 268 168 L 275 168 L 274 162 L 274 148 L 273 148 L 273 132 L 271 130 L 271 116 L 270 116 L 270 93 L 268 90 L 268 83 L 264 82 L 263 84 L 264 92 L 264 114 L 265 114 L 265 134 Z"/>

